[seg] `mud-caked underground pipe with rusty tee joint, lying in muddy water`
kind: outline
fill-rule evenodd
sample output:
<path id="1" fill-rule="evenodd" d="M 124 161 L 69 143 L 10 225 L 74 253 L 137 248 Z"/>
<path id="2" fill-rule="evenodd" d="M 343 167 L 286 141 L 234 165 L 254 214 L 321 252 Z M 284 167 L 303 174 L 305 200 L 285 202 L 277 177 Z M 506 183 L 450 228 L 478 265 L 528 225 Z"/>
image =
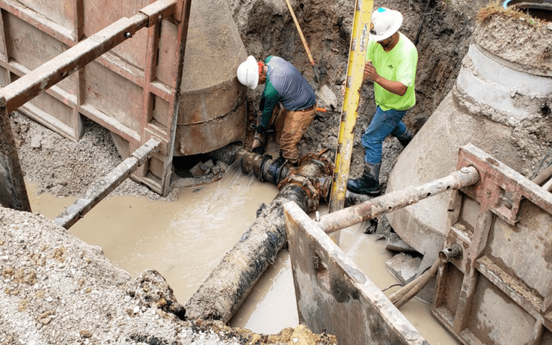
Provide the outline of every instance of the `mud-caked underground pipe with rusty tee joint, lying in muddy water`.
<path id="1" fill-rule="evenodd" d="M 287 241 L 282 206 L 295 201 L 303 211 L 314 211 L 320 198 L 329 194 L 331 180 L 327 176 L 333 171 L 332 164 L 316 158 L 305 156 L 299 168 L 286 168 L 275 177 L 271 157 L 237 150 L 236 160 L 243 172 L 253 171 L 263 181 L 279 181 L 280 192 L 269 205 L 259 207 L 257 219 L 185 304 L 188 319 L 226 323 L 235 314 Z"/>

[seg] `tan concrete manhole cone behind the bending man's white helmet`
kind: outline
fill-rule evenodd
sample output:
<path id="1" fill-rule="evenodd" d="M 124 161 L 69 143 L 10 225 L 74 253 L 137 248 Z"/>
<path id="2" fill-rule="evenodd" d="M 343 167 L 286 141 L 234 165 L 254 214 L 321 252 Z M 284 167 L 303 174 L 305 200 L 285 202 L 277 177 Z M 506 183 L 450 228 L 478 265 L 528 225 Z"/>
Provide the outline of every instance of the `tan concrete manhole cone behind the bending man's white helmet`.
<path id="1" fill-rule="evenodd" d="M 224 0 L 192 1 L 174 155 L 243 140 L 246 89 L 236 70 L 247 52 Z"/>

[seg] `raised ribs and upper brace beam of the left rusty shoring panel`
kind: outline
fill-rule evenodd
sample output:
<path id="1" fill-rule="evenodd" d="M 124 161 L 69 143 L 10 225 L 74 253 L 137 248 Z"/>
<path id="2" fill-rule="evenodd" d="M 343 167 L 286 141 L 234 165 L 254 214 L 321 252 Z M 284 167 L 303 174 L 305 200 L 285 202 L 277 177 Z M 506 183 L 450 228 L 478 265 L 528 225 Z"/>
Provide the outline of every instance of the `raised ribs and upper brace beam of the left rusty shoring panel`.
<path id="1" fill-rule="evenodd" d="M 178 97 L 182 81 L 182 68 L 185 52 L 185 43 L 189 22 L 189 10 L 191 0 L 158 0 L 149 6 L 142 8 L 139 13 L 131 18 L 122 18 L 100 30 L 88 39 L 83 38 L 83 0 L 75 4 L 74 25 L 75 31 L 62 28 L 59 24 L 46 19 L 43 15 L 23 6 L 15 0 L 0 0 L 0 45 L 4 48 L 4 54 L 0 59 L 0 66 L 6 69 L 6 80 L 11 83 L 2 89 L 0 95 L 6 98 L 8 112 L 15 109 L 22 111 L 30 118 L 59 132 L 72 140 L 78 140 L 83 134 L 81 114 L 104 126 L 114 134 L 119 135 L 129 143 L 130 152 L 135 151 L 151 137 L 161 140 L 160 150 L 153 156 L 157 171 L 161 176 L 155 176 L 150 171 L 150 164 L 144 164 L 137 173 L 132 175 L 136 181 L 145 183 L 157 193 L 166 195 L 169 189 L 172 155 L 174 149 L 174 137 L 176 134 L 176 121 L 178 114 Z M 17 61 L 10 59 L 10 48 L 6 35 L 8 31 L 4 23 L 4 14 L 11 13 L 34 26 L 43 33 L 59 40 L 70 47 L 67 51 L 56 56 L 44 65 L 29 71 Z M 155 79 L 157 63 L 158 37 L 161 30 L 161 20 L 167 19 L 177 25 L 177 37 L 174 44 L 177 46 L 172 63 L 172 82 L 165 84 Z M 147 58 L 145 71 L 123 61 L 115 54 L 108 52 L 116 45 L 130 39 L 137 30 L 148 28 Z M 84 77 L 83 68 L 87 63 L 97 60 L 100 65 L 115 72 L 117 75 L 137 84 L 144 90 L 143 112 L 140 120 L 140 130 L 136 131 L 125 126 L 110 114 L 105 114 L 90 104 L 84 103 Z M 55 84 L 66 78 L 71 73 L 77 73 L 77 94 L 70 94 Z M 12 80 L 14 75 L 17 80 Z M 70 123 L 54 118 L 46 114 L 38 107 L 28 102 L 36 95 L 46 92 L 73 110 Z M 152 121 L 152 97 L 156 95 L 169 104 L 167 123 L 160 126 Z"/>

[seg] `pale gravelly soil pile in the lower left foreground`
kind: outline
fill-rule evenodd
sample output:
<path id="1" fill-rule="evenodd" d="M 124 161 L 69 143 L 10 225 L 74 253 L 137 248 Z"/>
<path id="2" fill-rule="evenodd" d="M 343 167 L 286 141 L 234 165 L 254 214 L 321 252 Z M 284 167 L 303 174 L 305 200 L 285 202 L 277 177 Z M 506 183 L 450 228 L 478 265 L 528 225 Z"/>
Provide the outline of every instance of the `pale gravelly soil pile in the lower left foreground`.
<path id="1" fill-rule="evenodd" d="M 305 327 L 263 336 L 220 322 L 184 321 L 165 279 L 131 279 L 40 214 L 0 209 L 0 344 L 334 345 Z"/>

